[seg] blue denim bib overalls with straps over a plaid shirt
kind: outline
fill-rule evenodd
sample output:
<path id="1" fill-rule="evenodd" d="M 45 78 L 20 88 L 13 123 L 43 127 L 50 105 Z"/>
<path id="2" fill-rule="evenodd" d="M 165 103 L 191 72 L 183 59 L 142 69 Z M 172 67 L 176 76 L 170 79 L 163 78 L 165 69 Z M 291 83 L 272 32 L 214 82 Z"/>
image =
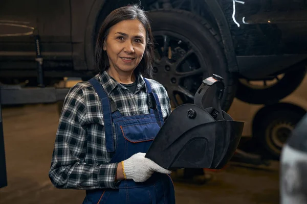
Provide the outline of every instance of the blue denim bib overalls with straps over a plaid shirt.
<path id="1" fill-rule="evenodd" d="M 156 93 L 151 91 L 149 82 L 145 80 L 148 98 L 151 98 L 150 114 L 122 116 L 118 110 L 112 113 L 112 103 L 100 83 L 92 78 L 90 83 L 98 93 L 103 110 L 106 149 L 114 152 L 112 122 L 115 124 L 116 151 L 111 163 L 121 162 L 138 152 L 147 152 L 155 139 L 163 117 L 160 102 Z M 83 204 L 92 203 L 175 203 L 174 188 L 170 176 L 155 172 L 144 183 L 133 180 L 122 180 L 119 189 L 87 190 Z"/>

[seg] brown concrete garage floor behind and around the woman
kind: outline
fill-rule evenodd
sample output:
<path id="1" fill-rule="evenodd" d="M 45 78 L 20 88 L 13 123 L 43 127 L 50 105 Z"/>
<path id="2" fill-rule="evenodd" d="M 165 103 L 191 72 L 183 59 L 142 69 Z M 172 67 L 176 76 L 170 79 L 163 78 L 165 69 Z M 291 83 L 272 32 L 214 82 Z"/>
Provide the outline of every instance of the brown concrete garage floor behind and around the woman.
<path id="1" fill-rule="evenodd" d="M 56 105 L 30 105 L 3 110 L 8 186 L 0 203 L 82 203 L 84 191 L 55 189 L 48 177 L 58 125 Z M 183 203 L 279 203 L 278 163 L 246 168 L 230 163 L 210 172 L 206 185 L 175 183 Z"/>

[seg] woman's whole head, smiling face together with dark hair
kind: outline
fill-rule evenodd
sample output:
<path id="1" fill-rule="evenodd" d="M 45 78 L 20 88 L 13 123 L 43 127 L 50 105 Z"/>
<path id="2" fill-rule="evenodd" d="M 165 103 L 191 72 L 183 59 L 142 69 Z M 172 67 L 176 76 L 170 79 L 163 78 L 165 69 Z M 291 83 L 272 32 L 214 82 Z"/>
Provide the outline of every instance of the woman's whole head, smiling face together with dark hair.
<path id="1" fill-rule="evenodd" d="M 119 8 L 102 23 L 95 47 L 95 64 L 100 71 L 108 67 L 120 70 L 120 59 L 135 58 L 131 64 L 125 64 L 126 71 L 132 68 L 144 77 L 152 77 L 153 37 L 150 23 L 143 11 L 133 10 L 136 7 L 129 7 L 130 10 L 126 11 L 122 9 L 126 7 Z M 123 11 L 125 15 L 121 15 Z M 128 59 L 122 61 L 130 63 Z"/>

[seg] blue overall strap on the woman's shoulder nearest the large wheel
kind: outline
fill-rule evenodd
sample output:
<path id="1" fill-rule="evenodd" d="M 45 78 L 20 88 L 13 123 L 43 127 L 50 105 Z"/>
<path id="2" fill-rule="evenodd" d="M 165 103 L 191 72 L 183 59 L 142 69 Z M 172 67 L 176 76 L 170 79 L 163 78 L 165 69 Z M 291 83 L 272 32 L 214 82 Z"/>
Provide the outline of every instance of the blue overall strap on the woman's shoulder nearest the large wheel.
<path id="1" fill-rule="evenodd" d="M 158 95 L 152 92 L 152 89 L 151 89 L 151 86 L 148 80 L 144 78 L 144 81 L 146 84 L 147 93 L 149 94 L 150 108 L 152 108 L 153 111 L 155 112 L 158 123 L 160 123 L 160 127 L 162 127 L 162 125 L 164 124 L 164 120 L 163 120 L 162 109 L 161 109 Z"/>

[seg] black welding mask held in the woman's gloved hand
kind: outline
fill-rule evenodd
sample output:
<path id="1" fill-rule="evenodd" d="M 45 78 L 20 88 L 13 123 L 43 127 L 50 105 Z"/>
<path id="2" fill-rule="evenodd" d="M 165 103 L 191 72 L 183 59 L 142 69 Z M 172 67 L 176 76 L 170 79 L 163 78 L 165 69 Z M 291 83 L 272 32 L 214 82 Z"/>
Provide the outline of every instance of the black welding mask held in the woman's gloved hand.
<path id="1" fill-rule="evenodd" d="M 171 170 L 222 168 L 233 156 L 244 126 L 221 109 L 224 88 L 218 75 L 205 79 L 194 104 L 172 111 L 145 157 Z"/>

